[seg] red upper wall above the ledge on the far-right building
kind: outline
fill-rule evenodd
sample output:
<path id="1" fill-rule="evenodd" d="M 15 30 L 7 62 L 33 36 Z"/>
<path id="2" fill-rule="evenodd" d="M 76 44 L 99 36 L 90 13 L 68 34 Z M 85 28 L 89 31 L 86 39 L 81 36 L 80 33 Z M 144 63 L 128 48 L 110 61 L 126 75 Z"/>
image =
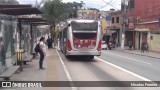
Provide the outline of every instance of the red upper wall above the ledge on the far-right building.
<path id="1" fill-rule="evenodd" d="M 159 9 L 160 0 L 135 0 L 135 20 L 138 19 L 139 22 L 158 20 Z"/>

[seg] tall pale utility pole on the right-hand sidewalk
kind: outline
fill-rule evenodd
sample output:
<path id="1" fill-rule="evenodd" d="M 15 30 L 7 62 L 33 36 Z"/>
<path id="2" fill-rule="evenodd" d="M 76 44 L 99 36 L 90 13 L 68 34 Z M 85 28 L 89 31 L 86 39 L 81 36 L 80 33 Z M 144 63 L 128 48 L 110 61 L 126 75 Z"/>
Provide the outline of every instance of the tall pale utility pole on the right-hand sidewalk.
<path id="1" fill-rule="evenodd" d="M 124 4 L 124 10 L 123 10 L 123 28 L 122 28 L 122 42 L 121 42 L 121 49 L 124 49 L 124 42 L 125 42 L 125 30 L 126 30 L 126 13 L 127 13 L 127 5 L 128 5 L 128 0 L 123 1 Z"/>

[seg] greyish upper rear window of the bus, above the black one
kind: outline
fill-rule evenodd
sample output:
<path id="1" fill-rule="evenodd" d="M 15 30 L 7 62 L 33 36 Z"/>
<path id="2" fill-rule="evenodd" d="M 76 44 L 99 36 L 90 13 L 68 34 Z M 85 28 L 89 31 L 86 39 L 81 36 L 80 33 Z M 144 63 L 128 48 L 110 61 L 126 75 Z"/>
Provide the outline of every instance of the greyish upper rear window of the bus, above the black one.
<path id="1" fill-rule="evenodd" d="M 85 31 L 97 31 L 98 22 L 93 23 L 77 23 L 75 21 L 71 22 L 73 31 L 85 30 Z"/>

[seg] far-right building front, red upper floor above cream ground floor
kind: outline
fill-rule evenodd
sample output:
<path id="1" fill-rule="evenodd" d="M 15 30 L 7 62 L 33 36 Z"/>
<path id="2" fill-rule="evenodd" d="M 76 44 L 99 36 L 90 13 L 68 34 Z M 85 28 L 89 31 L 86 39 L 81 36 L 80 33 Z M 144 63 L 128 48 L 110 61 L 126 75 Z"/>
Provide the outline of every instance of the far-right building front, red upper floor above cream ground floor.
<path id="1" fill-rule="evenodd" d="M 159 9 L 160 0 L 135 0 L 137 49 L 141 47 L 141 43 L 147 43 L 149 50 L 160 52 Z"/>

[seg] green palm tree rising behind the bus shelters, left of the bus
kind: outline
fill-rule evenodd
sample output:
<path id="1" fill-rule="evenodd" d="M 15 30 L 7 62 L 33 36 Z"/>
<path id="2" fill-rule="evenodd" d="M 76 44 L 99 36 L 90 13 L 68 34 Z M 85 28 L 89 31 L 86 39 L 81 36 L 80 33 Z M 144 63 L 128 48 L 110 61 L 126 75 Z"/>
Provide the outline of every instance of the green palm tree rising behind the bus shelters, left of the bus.
<path id="1" fill-rule="evenodd" d="M 50 22 L 51 37 L 54 37 L 55 25 L 58 23 L 65 11 L 65 4 L 61 0 L 47 0 L 42 7 L 44 18 Z"/>

